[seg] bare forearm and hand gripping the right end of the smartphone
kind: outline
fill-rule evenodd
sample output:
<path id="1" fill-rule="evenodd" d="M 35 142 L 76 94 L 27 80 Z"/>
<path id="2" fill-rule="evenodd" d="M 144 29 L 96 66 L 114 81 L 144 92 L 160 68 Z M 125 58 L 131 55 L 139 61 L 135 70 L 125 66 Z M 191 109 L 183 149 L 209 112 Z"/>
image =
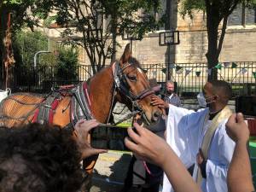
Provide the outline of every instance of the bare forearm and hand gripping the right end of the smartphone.
<path id="1" fill-rule="evenodd" d="M 134 126 L 137 133 L 129 128 L 128 134 L 131 139 L 126 137 L 125 145 L 137 158 L 160 166 L 166 172 L 176 192 L 201 191 L 165 140 L 140 125 L 134 124 Z"/>

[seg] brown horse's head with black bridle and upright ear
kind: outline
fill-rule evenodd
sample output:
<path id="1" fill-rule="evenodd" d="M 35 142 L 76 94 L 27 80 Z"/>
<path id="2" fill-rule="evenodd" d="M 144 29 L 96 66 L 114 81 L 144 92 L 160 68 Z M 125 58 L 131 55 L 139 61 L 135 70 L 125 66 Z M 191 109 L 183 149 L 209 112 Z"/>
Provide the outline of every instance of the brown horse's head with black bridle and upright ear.
<path id="1" fill-rule="evenodd" d="M 151 89 L 148 77 L 139 62 L 131 57 L 130 44 L 126 45 L 119 62 L 113 64 L 113 72 L 118 88 L 117 100 L 125 103 L 132 112 L 139 111 L 147 124 L 156 122 L 162 112 L 151 104 L 154 90 Z"/>

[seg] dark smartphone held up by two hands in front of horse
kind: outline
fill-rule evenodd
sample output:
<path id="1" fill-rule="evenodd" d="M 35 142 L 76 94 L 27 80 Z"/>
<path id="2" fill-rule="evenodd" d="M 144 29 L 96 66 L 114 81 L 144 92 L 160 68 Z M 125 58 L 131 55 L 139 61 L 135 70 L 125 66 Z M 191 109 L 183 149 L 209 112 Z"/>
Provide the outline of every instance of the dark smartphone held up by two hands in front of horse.
<path id="1" fill-rule="evenodd" d="M 90 146 L 93 148 L 130 151 L 125 146 L 125 137 L 128 137 L 125 127 L 98 126 L 91 131 L 90 137 Z"/>

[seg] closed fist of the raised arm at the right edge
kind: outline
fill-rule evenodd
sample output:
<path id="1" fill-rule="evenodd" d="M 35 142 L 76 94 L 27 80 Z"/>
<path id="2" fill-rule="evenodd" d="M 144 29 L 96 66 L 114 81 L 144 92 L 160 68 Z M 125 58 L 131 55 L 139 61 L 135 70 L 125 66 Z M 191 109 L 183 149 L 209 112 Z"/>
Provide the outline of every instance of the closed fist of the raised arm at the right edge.
<path id="1" fill-rule="evenodd" d="M 226 123 L 226 131 L 229 137 L 236 143 L 247 143 L 249 140 L 250 131 L 243 119 L 242 113 L 234 113 L 230 116 Z"/>

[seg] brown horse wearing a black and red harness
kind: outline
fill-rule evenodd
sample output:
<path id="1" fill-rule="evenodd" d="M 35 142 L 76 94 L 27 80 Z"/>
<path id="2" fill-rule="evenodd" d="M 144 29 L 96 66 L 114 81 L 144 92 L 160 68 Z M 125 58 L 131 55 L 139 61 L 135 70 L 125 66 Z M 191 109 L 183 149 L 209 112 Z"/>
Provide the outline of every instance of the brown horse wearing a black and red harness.
<path id="1" fill-rule="evenodd" d="M 28 93 L 8 96 L 0 105 L 0 124 L 13 127 L 39 122 L 66 127 L 82 118 L 107 123 L 117 101 L 151 124 L 161 115 L 160 108 L 150 104 L 152 95 L 148 78 L 139 62 L 131 57 L 128 44 L 119 61 L 96 73 L 87 83 L 47 96 Z M 89 172 L 94 165 L 94 162 L 90 165 Z"/>

